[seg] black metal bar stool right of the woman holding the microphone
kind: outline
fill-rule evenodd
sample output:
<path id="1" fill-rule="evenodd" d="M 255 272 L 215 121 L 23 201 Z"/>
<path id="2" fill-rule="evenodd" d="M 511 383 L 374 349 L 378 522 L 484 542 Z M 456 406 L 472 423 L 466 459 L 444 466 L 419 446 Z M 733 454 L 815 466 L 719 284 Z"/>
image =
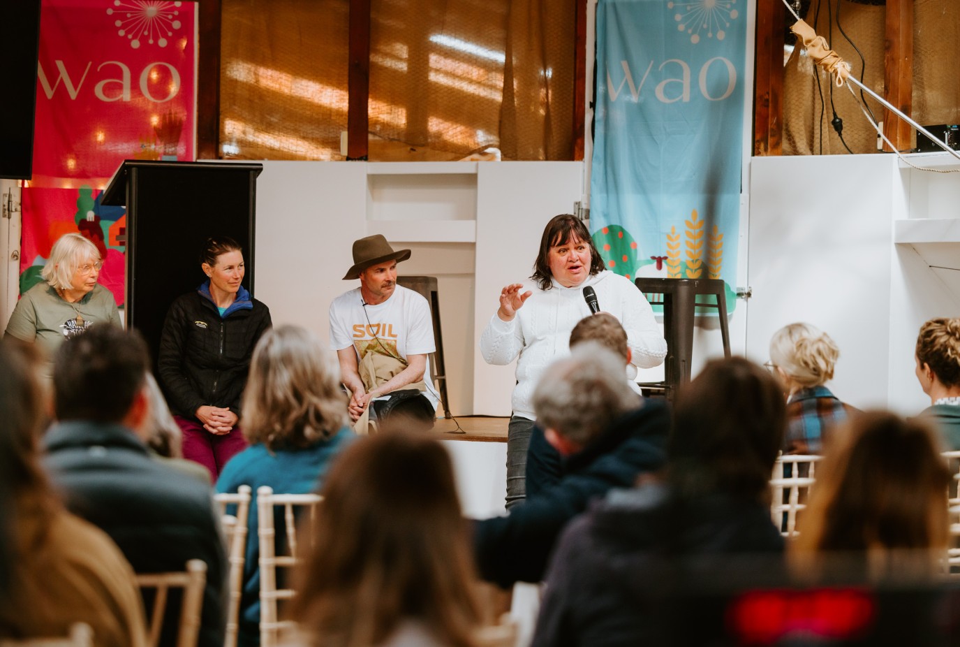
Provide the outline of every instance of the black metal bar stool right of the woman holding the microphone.
<path id="1" fill-rule="evenodd" d="M 643 389 L 664 391 L 673 401 L 677 388 L 690 381 L 693 356 L 693 326 L 698 308 L 716 309 L 723 336 L 723 352 L 730 357 L 730 330 L 727 328 L 727 288 L 721 279 L 653 279 L 637 278 L 636 286 L 650 305 L 663 306 L 663 336 L 666 338 L 666 361 L 663 381 L 639 383 Z M 697 301 L 698 295 L 713 295 L 714 303 Z M 657 298 L 657 297 L 660 298 Z"/>

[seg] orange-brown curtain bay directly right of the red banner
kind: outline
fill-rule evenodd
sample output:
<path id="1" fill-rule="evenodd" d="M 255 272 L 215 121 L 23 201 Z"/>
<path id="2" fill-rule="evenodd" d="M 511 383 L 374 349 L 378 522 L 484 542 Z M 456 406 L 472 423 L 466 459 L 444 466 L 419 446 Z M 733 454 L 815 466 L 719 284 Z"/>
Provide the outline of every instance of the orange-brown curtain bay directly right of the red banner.
<path id="1" fill-rule="evenodd" d="M 348 2 L 222 0 L 220 155 L 342 160 Z"/>

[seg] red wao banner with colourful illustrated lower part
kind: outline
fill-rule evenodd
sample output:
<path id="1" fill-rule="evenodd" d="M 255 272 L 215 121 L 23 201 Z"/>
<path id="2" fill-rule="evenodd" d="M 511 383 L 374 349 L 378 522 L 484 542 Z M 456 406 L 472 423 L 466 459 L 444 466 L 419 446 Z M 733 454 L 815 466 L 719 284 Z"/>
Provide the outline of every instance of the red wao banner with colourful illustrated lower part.
<path id="1" fill-rule="evenodd" d="M 125 210 L 103 207 L 103 189 L 124 160 L 194 159 L 196 51 L 193 2 L 43 0 L 21 293 L 53 243 L 79 232 L 123 305 Z"/>

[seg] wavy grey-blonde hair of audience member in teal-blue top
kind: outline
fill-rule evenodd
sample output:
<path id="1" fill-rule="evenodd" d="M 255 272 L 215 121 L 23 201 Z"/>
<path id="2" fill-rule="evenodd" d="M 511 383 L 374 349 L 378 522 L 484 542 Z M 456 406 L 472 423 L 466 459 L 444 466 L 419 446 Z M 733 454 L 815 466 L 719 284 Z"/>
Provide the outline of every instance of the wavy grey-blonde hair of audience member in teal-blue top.
<path id="1" fill-rule="evenodd" d="M 243 435 L 268 449 L 302 449 L 347 421 L 340 364 L 300 326 L 273 328 L 256 343 L 243 398 Z"/>

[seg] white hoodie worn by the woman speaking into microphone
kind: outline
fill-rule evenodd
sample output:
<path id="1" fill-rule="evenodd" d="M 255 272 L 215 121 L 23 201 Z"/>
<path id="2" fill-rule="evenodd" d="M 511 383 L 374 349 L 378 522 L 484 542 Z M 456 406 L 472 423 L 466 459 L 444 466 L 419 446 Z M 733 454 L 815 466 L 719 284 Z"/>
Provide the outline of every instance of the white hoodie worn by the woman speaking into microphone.
<path id="1" fill-rule="evenodd" d="M 525 284 L 520 293 L 533 294 L 516 311 L 513 321 L 503 321 L 493 313 L 480 336 L 480 352 L 491 364 L 516 362 L 514 415 L 536 419 L 533 392 L 540 375 L 550 362 L 569 354 L 570 332 L 590 311 L 584 300 L 584 287 L 593 286 L 600 310 L 619 319 L 627 331 L 627 344 L 633 353 L 627 377 L 636 378 L 636 366 L 651 368 L 666 357 L 666 340 L 643 293 L 630 279 L 601 271 L 576 287 L 561 286 L 541 290 Z"/>

